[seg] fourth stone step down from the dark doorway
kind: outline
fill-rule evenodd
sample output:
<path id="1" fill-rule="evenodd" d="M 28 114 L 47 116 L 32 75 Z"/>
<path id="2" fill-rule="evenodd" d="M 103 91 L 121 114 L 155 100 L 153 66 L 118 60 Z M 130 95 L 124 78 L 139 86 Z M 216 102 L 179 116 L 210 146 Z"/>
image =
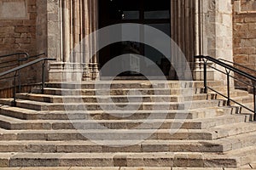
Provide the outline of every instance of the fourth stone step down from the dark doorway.
<path id="1" fill-rule="evenodd" d="M 11 105 L 13 99 L 0 99 L 0 104 Z M 21 108 L 35 111 L 168 111 L 168 110 L 190 110 L 195 108 L 206 108 L 223 106 L 222 100 L 198 100 L 188 102 L 130 102 L 130 103 L 45 103 L 32 100 L 16 100 L 16 105 Z"/>

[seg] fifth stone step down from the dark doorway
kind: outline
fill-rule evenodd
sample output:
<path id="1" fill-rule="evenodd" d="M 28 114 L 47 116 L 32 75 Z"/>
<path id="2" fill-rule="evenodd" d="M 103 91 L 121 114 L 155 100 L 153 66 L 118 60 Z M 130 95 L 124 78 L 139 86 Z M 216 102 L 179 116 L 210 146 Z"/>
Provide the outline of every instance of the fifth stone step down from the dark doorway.
<path id="1" fill-rule="evenodd" d="M 189 111 L 34 111 L 24 108 L 2 106 L 0 114 L 3 116 L 11 116 L 23 120 L 83 120 L 90 116 L 94 119 L 102 120 L 137 120 L 147 119 L 153 116 L 154 119 L 195 119 L 207 118 L 214 116 L 224 116 L 236 114 L 238 108 L 230 107 L 212 107 L 202 108 Z"/>

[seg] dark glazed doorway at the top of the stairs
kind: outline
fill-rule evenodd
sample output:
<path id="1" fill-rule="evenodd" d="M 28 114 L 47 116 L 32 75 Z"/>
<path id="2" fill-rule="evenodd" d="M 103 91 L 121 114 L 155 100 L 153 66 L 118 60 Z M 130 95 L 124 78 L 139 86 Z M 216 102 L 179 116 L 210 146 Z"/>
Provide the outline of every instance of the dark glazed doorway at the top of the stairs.
<path id="1" fill-rule="evenodd" d="M 153 26 L 170 36 L 170 8 L 170 0 L 99 0 L 99 26 L 102 28 L 119 23 L 138 23 Z M 138 42 L 117 42 L 103 48 L 100 51 L 100 65 L 105 65 L 110 59 L 121 54 L 140 54 L 146 56 L 154 64 L 159 65 L 166 76 L 169 75 L 171 67 L 169 60 L 157 49 Z M 141 76 L 138 73 L 139 65 L 142 65 L 142 63 L 137 65 L 137 71 L 124 72 L 119 76 Z M 143 63 L 143 65 L 147 65 L 147 63 Z M 150 69 L 150 65 L 147 68 Z"/>

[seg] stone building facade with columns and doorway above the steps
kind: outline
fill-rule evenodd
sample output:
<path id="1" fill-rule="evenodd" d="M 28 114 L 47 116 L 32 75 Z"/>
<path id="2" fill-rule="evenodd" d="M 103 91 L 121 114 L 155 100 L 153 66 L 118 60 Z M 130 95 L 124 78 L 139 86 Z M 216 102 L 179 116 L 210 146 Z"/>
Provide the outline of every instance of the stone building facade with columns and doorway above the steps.
<path id="1" fill-rule="evenodd" d="M 195 80 L 203 78 L 202 61 L 193 58 L 198 54 L 236 61 L 254 70 L 256 67 L 254 0 L 0 0 L 0 5 L 5 9 L 0 14 L 0 54 L 46 52 L 56 59 L 48 65 L 49 81 L 61 81 L 65 71 L 82 72 L 82 79 L 94 80 L 112 55 L 122 54 L 128 47 L 126 53 L 152 51 L 142 44 L 116 43 L 90 57 L 97 39 L 84 37 L 121 23 L 165 31 L 183 51 Z M 81 41 L 85 41 L 80 47 L 84 53 L 75 53 L 73 49 Z M 166 76 L 177 79 L 172 66 L 155 56 L 154 62 Z M 172 56 L 172 65 L 177 58 Z M 211 80 L 224 79 L 211 69 L 208 75 Z"/>

